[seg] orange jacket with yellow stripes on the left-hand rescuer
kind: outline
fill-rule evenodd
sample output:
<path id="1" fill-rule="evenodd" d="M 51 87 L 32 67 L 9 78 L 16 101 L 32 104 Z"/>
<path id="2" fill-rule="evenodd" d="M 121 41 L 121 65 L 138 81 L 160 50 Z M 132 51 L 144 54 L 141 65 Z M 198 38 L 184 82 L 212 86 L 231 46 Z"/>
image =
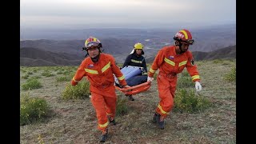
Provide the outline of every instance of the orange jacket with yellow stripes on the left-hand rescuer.
<path id="1" fill-rule="evenodd" d="M 115 64 L 114 57 L 110 54 L 99 55 L 98 62 L 93 62 L 90 57 L 85 58 L 78 67 L 76 74 L 71 81 L 74 86 L 84 76 L 90 82 L 90 91 L 104 93 L 106 88 L 114 86 L 114 75 L 122 86 L 126 86 L 126 80 L 119 67 Z M 102 91 L 102 89 L 105 89 Z"/>

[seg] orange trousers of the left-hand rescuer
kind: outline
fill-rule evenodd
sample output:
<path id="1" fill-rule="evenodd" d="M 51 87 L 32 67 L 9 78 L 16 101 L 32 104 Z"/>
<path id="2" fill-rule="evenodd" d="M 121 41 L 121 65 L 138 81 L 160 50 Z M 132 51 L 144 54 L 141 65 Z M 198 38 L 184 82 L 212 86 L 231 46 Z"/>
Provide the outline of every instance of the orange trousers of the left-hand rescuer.
<path id="1" fill-rule="evenodd" d="M 98 119 L 98 130 L 106 130 L 109 122 L 108 117 L 111 119 L 115 116 L 116 104 L 117 104 L 117 95 L 115 91 L 113 94 L 104 95 L 91 92 L 90 101 L 94 106 Z"/>

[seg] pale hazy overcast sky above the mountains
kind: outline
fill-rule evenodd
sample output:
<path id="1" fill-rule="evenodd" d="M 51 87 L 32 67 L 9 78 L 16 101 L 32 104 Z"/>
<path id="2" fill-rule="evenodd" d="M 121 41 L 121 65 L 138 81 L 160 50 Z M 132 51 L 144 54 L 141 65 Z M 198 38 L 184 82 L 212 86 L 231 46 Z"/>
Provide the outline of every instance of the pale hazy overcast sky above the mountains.
<path id="1" fill-rule="evenodd" d="M 21 0 L 21 28 L 146 28 L 236 22 L 235 0 Z"/>

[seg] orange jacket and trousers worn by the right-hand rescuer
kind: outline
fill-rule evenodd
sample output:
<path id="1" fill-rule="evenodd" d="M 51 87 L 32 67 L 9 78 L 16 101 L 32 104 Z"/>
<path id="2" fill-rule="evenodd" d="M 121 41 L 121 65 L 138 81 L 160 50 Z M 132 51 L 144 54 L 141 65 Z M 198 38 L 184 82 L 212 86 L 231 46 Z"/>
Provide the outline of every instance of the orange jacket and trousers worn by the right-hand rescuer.
<path id="1" fill-rule="evenodd" d="M 192 53 L 187 50 L 183 54 L 176 54 L 175 46 L 165 46 L 162 50 L 159 50 L 148 72 L 148 76 L 153 78 L 154 73 L 159 69 L 157 82 L 160 102 L 156 112 L 164 118 L 166 118 L 166 114 L 169 114 L 174 106 L 177 74 L 181 73 L 185 67 L 193 82 L 200 81 Z"/>

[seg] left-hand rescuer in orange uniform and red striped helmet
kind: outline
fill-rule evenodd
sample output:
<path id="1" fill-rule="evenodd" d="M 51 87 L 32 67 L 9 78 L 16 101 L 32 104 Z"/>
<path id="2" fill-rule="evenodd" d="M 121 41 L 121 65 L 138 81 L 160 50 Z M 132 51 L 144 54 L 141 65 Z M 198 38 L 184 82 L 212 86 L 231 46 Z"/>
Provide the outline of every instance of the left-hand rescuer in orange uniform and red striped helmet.
<path id="1" fill-rule="evenodd" d="M 116 111 L 117 95 L 114 87 L 114 75 L 118 78 L 123 87 L 127 86 L 124 75 L 115 64 L 114 57 L 110 54 L 103 54 L 102 43 L 98 38 L 87 38 L 85 49 L 86 57 L 78 67 L 76 74 L 71 80 L 75 86 L 83 78 L 87 77 L 90 82 L 91 102 L 96 110 L 98 119 L 98 130 L 102 131 L 100 142 L 105 142 L 108 133 L 109 122 L 115 125 L 114 116 Z"/>

